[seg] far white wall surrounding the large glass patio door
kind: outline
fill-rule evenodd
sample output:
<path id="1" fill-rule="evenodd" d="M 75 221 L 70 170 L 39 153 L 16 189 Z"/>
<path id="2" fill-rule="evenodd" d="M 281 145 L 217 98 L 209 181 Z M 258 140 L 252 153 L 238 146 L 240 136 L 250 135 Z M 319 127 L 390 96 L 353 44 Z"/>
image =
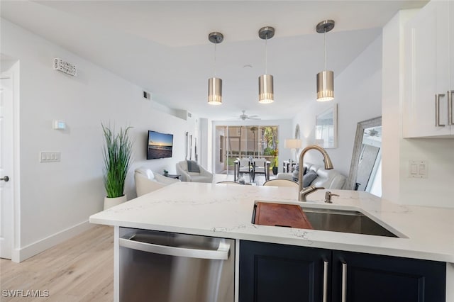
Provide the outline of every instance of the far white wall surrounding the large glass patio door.
<path id="1" fill-rule="evenodd" d="M 262 105 L 260 105 L 262 106 Z M 266 105 L 265 105 L 266 106 Z M 284 148 L 284 140 L 286 138 L 294 138 L 294 131 L 292 129 L 292 120 L 269 120 L 269 121 L 261 121 L 261 120 L 253 120 L 253 121 L 212 121 L 211 128 L 216 129 L 218 125 L 228 125 L 228 126 L 238 126 L 238 125 L 277 125 L 278 126 L 278 138 L 279 141 L 277 148 L 279 150 L 279 172 L 282 172 L 282 161 L 289 160 L 291 157 L 291 152 L 289 149 Z M 216 142 L 216 131 L 212 131 L 212 138 L 213 142 Z M 215 163 L 216 157 L 211 158 L 212 167 L 216 167 Z"/>

